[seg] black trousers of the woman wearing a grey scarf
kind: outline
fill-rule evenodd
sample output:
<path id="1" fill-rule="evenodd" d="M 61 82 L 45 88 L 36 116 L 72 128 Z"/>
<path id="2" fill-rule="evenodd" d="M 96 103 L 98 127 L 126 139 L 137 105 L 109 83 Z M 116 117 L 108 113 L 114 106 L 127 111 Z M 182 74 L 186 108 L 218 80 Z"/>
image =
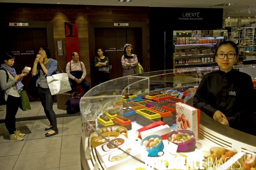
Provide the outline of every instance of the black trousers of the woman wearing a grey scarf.
<path id="1" fill-rule="evenodd" d="M 20 97 L 15 97 L 8 95 L 7 102 L 6 102 L 6 119 L 5 124 L 8 132 L 10 135 L 14 134 L 14 131 L 16 130 L 16 114 L 18 109 L 22 108 L 21 99 Z"/>

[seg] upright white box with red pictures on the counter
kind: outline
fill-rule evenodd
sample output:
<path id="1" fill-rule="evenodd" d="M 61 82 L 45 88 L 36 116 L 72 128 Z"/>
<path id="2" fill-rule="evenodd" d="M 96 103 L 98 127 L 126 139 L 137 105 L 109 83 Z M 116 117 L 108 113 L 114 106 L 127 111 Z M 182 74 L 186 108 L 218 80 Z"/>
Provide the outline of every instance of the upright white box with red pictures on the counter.
<path id="1" fill-rule="evenodd" d="M 186 103 L 176 103 L 177 130 L 191 130 L 199 138 L 200 110 Z"/>

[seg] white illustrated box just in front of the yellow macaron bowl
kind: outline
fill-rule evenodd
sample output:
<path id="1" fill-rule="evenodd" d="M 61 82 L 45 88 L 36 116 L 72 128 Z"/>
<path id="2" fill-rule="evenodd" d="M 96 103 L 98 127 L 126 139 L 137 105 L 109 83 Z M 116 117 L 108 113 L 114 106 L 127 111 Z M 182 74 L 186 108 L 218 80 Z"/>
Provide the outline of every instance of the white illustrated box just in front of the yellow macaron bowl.
<path id="1" fill-rule="evenodd" d="M 116 137 L 115 139 L 112 139 L 111 142 L 116 144 L 118 147 L 124 147 L 124 146 L 126 146 L 128 144 L 131 144 L 129 139 L 127 139 L 123 135 L 120 135 L 120 136 Z M 99 146 L 95 147 L 95 149 L 97 150 L 98 155 L 100 155 L 100 156 L 105 156 L 105 155 L 107 155 L 109 153 L 112 153 L 112 152 L 118 150 L 116 147 L 114 147 L 109 142 L 107 142 L 105 144 L 102 144 L 102 145 L 99 145 Z"/>

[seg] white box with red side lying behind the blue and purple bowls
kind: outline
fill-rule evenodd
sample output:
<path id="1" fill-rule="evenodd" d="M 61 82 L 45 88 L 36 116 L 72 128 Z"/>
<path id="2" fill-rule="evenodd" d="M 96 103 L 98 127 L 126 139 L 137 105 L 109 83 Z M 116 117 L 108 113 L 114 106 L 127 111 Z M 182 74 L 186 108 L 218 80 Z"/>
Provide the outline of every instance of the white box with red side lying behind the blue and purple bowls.
<path id="1" fill-rule="evenodd" d="M 166 136 L 168 133 L 171 133 L 171 129 L 168 125 L 161 125 L 154 127 L 152 129 L 145 130 L 143 132 L 140 132 L 141 139 L 144 139 L 147 136 L 150 135 L 159 135 L 162 137 L 162 139 L 167 139 Z"/>

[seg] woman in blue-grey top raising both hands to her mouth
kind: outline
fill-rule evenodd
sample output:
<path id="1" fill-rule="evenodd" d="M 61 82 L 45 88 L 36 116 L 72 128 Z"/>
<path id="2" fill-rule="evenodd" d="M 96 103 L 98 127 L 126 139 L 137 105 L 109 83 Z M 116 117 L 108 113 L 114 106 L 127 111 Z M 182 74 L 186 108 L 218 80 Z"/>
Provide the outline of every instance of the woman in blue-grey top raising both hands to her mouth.
<path id="1" fill-rule="evenodd" d="M 55 95 L 52 95 L 47 83 L 47 76 L 51 76 L 57 71 L 57 61 L 51 59 L 51 53 L 48 47 L 41 46 L 39 54 L 35 58 L 34 66 L 32 68 L 33 76 L 38 75 L 36 87 L 39 99 L 44 107 L 44 113 L 50 122 L 50 125 L 45 130 L 51 130 L 45 134 L 46 137 L 58 134 L 57 119 L 53 111 L 53 100 Z"/>

